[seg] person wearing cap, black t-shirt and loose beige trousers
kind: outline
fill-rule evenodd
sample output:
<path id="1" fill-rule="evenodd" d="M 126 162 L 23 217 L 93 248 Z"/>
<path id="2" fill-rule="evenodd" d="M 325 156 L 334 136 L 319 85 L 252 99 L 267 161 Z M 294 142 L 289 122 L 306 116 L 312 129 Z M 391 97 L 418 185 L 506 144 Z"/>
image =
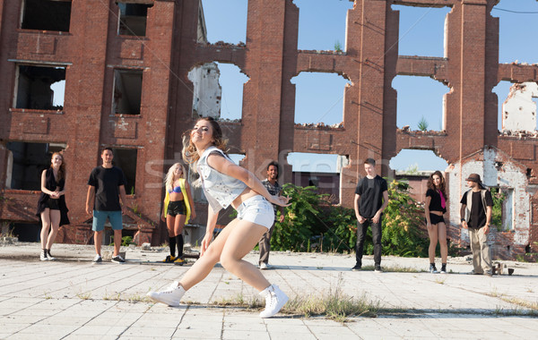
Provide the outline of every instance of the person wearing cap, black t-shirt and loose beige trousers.
<path id="1" fill-rule="evenodd" d="M 493 199 L 481 181 L 480 174 L 470 174 L 465 180 L 471 190 L 462 197 L 460 217 L 462 226 L 469 230 L 473 251 L 473 274 L 491 276 L 491 251 L 488 243 Z"/>

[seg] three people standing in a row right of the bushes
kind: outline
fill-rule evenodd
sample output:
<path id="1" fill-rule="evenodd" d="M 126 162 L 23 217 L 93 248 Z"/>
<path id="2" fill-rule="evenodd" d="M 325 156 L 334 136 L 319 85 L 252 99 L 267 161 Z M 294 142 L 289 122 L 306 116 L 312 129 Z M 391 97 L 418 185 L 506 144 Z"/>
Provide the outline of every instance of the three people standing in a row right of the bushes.
<path id="1" fill-rule="evenodd" d="M 388 205 L 388 189 L 386 180 L 376 174 L 376 161 L 368 158 L 364 161 L 366 176 L 360 179 L 355 190 L 354 209 L 357 217 L 357 244 L 355 249 L 356 262 L 351 268 L 358 271 L 362 268 L 362 252 L 364 238 L 368 227 L 372 230 L 374 244 L 374 270 L 381 272 L 381 223 L 383 211 Z M 471 174 L 465 180 L 470 188 L 460 201 L 461 223 L 469 230 L 471 250 L 473 251 L 473 274 L 491 276 L 491 255 L 488 233 L 490 231 L 491 208 L 493 200 L 491 192 L 482 184 L 479 174 Z M 439 244 L 441 253 L 442 274 L 447 273 L 447 225 L 443 215 L 447 212 L 447 191 L 443 174 L 436 171 L 430 174 L 428 190 L 424 204 L 424 220 L 430 237 L 428 255 L 430 258 L 430 273 L 438 273 L 435 265 L 436 248 Z"/>

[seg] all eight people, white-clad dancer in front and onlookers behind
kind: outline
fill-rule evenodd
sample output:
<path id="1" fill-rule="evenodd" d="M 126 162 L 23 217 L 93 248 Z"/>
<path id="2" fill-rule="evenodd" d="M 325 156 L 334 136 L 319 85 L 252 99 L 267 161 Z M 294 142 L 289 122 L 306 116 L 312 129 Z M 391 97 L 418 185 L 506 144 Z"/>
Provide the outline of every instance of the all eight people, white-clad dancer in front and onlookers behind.
<path id="1" fill-rule="evenodd" d="M 282 187 L 276 181 L 278 164 L 267 166 L 267 178 L 259 181 L 247 169 L 231 161 L 225 153 L 227 140 L 222 136 L 221 127 L 213 118 L 201 118 L 195 127 L 184 136 L 183 159 L 195 167 L 208 200 L 208 217 L 204 239 L 200 248 L 200 259 L 187 270 L 179 281 L 166 289 L 147 295 L 156 302 L 178 306 L 183 295 L 202 281 L 217 262 L 230 273 L 253 286 L 265 297 L 265 310 L 262 318 L 270 318 L 282 309 L 288 296 L 277 285 L 270 284 L 256 266 L 243 260 L 256 243 L 260 246 L 259 268 L 268 268 L 270 240 L 278 207 L 290 205 L 289 197 L 282 196 Z M 112 166 L 112 149 L 103 149 L 102 166 L 91 171 L 88 180 L 86 212 L 93 216 L 92 230 L 96 256 L 93 262 L 102 261 L 100 244 L 104 224 L 108 219 L 114 230 L 115 241 L 121 240 L 122 213 L 126 206 L 126 178 L 121 169 Z M 357 217 L 356 264 L 351 269 L 362 267 L 362 252 L 368 227 L 372 229 L 374 243 L 375 271 L 381 272 L 381 230 L 383 211 L 388 205 L 386 180 L 376 174 L 376 162 L 368 158 L 364 162 L 364 176 L 355 191 L 354 209 Z M 195 204 L 186 180 L 185 167 L 179 163 L 170 167 L 166 175 L 166 196 L 161 219 L 166 221 L 169 231 L 170 255 L 165 262 L 179 265 L 183 258 L 183 228 L 191 217 L 195 217 Z M 485 190 L 478 174 L 467 178 L 471 188 L 465 192 L 461 204 L 462 226 L 469 228 L 473 250 L 474 274 L 490 274 L 491 264 L 487 233 L 489 231 L 492 200 L 490 191 Z M 43 171 L 39 198 L 39 216 L 43 223 L 41 259 L 54 259 L 50 247 L 54 242 L 57 227 L 68 223 L 65 206 L 65 162 L 55 153 L 49 169 Z M 121 198 L 121 203 L 119 202 Z M 435 249 L 439 242 L 441 248 L 441 272 L 447 271 L 447 227 L 443 214 L 446 213 L 447 194 L 445 180 L 440 172 L 430 175 L 426 192 L 425 220 L 430 235 L 430 271 L 437 272 Z M 232 206 L 237 217 L 222 229 L 213 240 L 213 231 L 222 208 Z M 283 211 L 282 211 L 283 212 Z M 280 222 L 284 214 L 280 215 Z M 48 233 L 48 229 L 52 231 Z M 112 261 L 125 262 L 119 255 L 121 242 L 114 242 Z M 176 254 L 177 247 L 177 254 Z"/>

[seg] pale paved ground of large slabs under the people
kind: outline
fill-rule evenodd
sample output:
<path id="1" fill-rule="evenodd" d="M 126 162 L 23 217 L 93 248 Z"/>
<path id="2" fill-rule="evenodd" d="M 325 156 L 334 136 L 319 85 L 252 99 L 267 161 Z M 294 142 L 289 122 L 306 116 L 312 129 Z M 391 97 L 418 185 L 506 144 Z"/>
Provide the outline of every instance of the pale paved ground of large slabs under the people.
<path id="1" fill-rule="evenodd" d="M 351 272 L 350 255 L 274 252 L 265 271 L 291 298 L 344 294 L 378 304 L 377 317 L 324 317 L 218 307 L 257 293 L 217 266 L 179 308 L 144 298 L 188 269 L 160 264 L 166 252 L 126 249 L 127 262 L 91 265 L 90 246 L 57 244 L 58 260 L 39 261 L 39 244 L 0 244 L 0 338 L 4 339 L 512 339 L 538 334 L 538 264 L 503 262 L 513 276 L 466 275 L 463 258 L 449 274 L 417 272 L 427 259 L 383 258 L 384 273 Z M 247 260 L 256 263 L 251 252 Z M 367 257 L 364 265 L 372 265 Z M 402 272 L 403 269 L 412 272 Z"/>

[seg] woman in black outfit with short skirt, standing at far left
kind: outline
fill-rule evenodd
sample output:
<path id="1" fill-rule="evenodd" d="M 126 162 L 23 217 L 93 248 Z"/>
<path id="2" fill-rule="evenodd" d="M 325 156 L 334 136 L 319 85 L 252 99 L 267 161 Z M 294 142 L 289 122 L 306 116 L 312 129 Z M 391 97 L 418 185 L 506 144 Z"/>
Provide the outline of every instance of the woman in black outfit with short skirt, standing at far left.
<path id="1" fill-rule="evenodd" d="M 54 260 L 50 248 L 56 239 L 60 225 L 68 225 L 67 206 L 65 205 L 65 162 L 64 157 L 55 152 L 50 159 L 50 167 L 41 173 L 41 196 L 38 213 L 41 219 L 42 261 Z"/>

